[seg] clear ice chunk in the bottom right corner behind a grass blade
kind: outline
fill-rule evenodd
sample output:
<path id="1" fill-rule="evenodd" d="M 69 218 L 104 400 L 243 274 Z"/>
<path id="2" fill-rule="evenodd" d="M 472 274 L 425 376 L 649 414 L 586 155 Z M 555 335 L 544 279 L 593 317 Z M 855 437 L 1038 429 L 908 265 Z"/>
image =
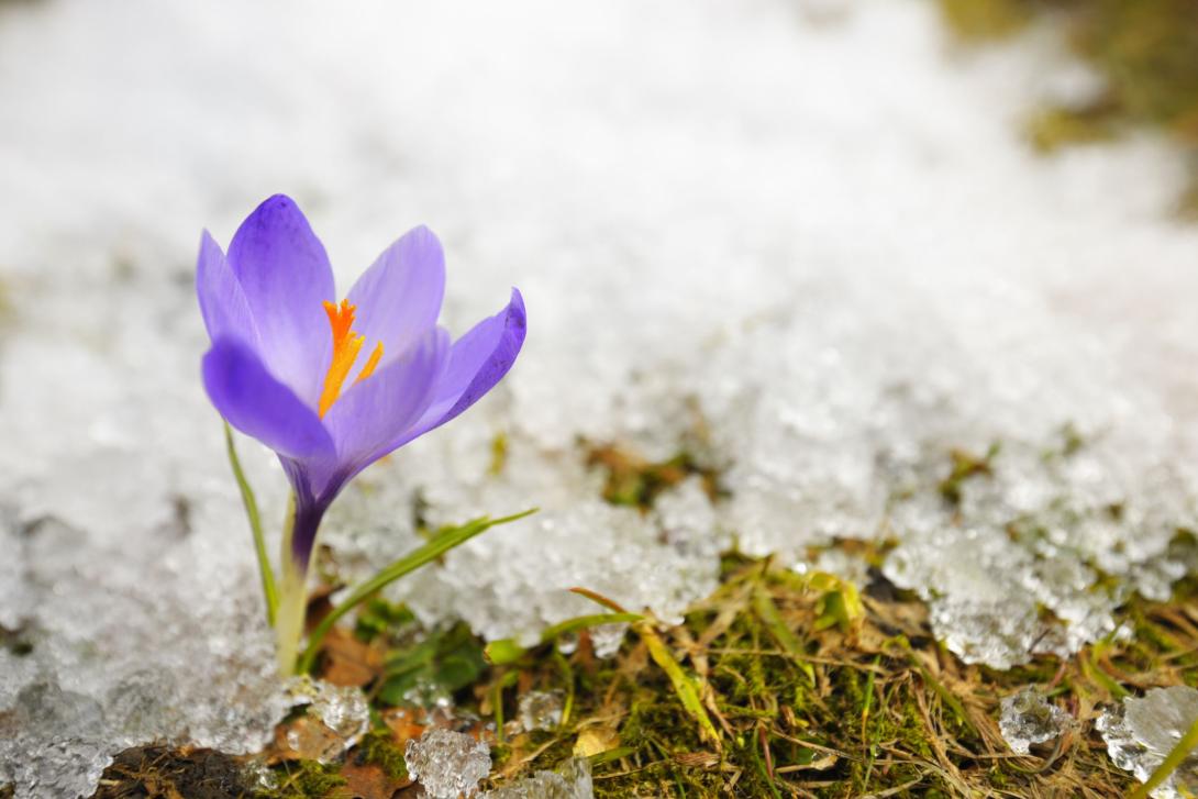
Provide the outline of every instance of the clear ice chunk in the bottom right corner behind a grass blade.
<path id="1" fill-rule="evenodd" d="M 1198 690 L 1188 685 L 1154 688 L 1108 708 L 1096 722 L 1114 764 L 1145 782 L 1198 719 Z M 1198 792 L 1198 753 L 1152 792 L 1154 799 L 1181 799 Z"/>

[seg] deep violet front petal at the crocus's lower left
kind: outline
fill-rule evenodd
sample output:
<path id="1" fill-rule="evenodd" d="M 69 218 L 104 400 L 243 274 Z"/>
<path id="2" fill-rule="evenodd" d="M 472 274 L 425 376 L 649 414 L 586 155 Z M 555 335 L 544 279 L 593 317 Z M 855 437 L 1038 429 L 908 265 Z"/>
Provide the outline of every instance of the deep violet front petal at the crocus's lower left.
<path id="1" fill-rule="evenodd" d="M 204 356 L 204 387 L 232 426 L 289 458 L 331 453 L 316 412 L 276 380 L 243 341 L 222 338 Z"/>

